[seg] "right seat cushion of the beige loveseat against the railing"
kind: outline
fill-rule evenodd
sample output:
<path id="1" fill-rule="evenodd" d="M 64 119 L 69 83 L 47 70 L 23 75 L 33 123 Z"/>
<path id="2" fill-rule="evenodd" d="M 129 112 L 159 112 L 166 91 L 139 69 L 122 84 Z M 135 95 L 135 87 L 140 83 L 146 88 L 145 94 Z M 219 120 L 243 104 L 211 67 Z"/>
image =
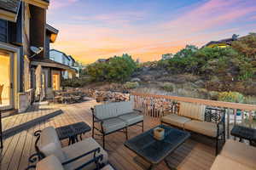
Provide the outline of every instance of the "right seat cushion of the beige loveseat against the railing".
<path id="1" fill-rule="evenodd" d="M 217 136 L 217 124 L 213 122 L 201 122 L 192 120 L 185 122 L 184 128 L 195 133 L 201 133 L 210 137 Z"/>

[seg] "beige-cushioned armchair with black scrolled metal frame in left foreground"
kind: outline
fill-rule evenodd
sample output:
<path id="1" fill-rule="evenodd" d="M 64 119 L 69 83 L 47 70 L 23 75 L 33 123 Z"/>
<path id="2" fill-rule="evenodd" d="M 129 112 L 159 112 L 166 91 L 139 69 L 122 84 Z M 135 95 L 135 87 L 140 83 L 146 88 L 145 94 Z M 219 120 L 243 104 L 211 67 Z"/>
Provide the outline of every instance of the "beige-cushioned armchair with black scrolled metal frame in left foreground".
<path id="1" fill-rule="evenodd" d="M 83 139 L 75 144 L 62 148 L 61 141 L 54 127 L 46 127 L 42 131 L 39 130 L 35 132 L 35 136 L 38 137 L 35 144 L 37 153 L 30 156 L 29 161 L 32 163 L 53 155 L 61 162 L 65 170 L 73 170 L 77 167 L 80 167 L 79 169 L 86 167 L 83 169 L 92 170 L 96 169 L 97 165 L 103 167 L 108 164 L 108 153 L 102 149 L 101 145 L 95 139 Z M 39 139 L 40 144 L 38 144 Z M 91 161 L 94 163 L 91 163 Z M 44 163 L 40 168 L 43 165 Z M 41 169 L 48 169 L 43 167 Z"/>

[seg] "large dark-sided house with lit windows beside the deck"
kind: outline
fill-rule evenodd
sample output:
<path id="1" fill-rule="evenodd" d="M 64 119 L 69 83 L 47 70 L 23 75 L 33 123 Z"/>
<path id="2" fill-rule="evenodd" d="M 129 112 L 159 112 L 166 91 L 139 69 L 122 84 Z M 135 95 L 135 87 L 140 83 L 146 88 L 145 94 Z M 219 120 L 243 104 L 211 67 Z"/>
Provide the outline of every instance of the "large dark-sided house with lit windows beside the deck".
<path id="1" fill-rule="evenodd" d="M 49 42 L 55 42 L 58 31 L 46 24 L 48 6 L 49 0 L 0 1 L 1 110 L 25 111 L 31 104 L 38 65 L 45 94 L 60 89 L 61 71 L 72 69 L 49 59 Z M 31 46 L 43 50 L 33 56 Z"/>

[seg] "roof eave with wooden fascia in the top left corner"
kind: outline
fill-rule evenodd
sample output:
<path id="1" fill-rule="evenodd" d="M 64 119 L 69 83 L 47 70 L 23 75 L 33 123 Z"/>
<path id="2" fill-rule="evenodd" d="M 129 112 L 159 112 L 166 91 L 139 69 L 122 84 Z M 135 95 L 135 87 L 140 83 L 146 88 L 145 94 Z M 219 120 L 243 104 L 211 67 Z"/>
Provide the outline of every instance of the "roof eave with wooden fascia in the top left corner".
<path id="1" fill-rule="evenodd" d="M 0 0 L 0 19 L 16 22 L 20 0 Z"/>

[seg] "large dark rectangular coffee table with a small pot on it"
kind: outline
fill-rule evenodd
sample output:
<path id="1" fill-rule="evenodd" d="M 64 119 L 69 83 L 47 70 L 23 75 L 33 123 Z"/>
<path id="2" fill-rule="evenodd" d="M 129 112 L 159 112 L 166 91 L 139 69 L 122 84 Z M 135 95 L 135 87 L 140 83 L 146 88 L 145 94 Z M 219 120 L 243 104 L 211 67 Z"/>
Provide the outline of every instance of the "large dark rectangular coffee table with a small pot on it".
<path id="1" fill-rule="evenodd" d="M 137 156 L 142 157 L 143 160 L 150 163 L 150 167 L 148 169 L 153 169 L 161 161 L 165 161 L 166 165 L 170 167 L 166 161 L 166 156 L 169 156 L 178 148 L 178 146 L 183 144 L 183 142 L 190 137 L 189 132 L 185 132 L 177 128 L 167 127 L 166 125 L 160 125 L 157 127 L 165 129 L 165 139 L 154 139 L 154 127 L 125 142 L 125 146 L 128 149 L 134 151 Z M 170 167 L 170 169 L 172 169 L 172 167 Z"/>

